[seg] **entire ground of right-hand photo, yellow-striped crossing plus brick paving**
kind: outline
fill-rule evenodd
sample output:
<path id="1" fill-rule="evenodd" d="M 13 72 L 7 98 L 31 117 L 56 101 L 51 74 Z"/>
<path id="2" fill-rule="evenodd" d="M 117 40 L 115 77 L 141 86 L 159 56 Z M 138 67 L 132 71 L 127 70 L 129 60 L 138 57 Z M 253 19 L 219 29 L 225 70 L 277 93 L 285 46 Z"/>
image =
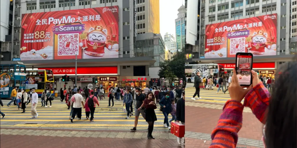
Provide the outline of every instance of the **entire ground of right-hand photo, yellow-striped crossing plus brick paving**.
<path id="1" fill-rule="evenodd" d="M 217 125 L 225 102 L 230 99 L 228 91 L 217 94 L 214 90 L 200 89 L 202 99 L 191 99 L 195 93 L 193 83 L 187 83 L 186 93 L 186 147 L 209 147 L 211 144 L 211 132 Z M 243 103 L 243 102 L 242 102 Z M 263 124 L 252 114 L 251 109 L 245 107 L 243 111 L 243 125 L 238 132 L 237 147 L 264 147 L 262 138 Z M 194 135 L 194 136 L 193 136 Z"/>

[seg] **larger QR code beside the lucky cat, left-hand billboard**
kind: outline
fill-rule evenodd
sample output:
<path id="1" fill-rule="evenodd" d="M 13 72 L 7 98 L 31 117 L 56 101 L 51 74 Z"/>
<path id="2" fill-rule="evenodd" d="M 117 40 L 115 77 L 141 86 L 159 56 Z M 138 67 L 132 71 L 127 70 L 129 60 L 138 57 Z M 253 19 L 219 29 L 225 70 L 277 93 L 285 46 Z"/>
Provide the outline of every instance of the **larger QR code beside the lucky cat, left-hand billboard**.
<path id="1" fill-rule="evenodd" d="M 78 33 L 58 35 L 58 56 L 79 54 Z"/>

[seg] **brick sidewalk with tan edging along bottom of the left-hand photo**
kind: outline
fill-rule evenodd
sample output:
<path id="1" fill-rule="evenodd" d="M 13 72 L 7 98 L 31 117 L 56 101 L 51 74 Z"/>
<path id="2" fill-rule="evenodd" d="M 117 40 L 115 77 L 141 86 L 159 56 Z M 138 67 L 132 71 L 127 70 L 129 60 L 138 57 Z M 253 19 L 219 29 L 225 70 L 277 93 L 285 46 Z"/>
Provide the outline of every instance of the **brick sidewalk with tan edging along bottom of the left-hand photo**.
<path id="1" fill-rule="evenodd" d="M 7 131 L 9 130 L 9 131 Z M 60 129 L 61 130 L 61 129 Z M 52 131 L 48 136 L 41 136 L 41 134 Z M 82 133 L 79 135 L 79 133 Z M 98 135 L 96 134 L 98 133 Z M 26 133 L 19 135 L 19 133 Z M 32 133 L 32 134 L 29 134 Z M 35 133 L 40 133 L 36 135 Z M 73 134 L 72 137 L 64 134 Z M 125 133 L 124 136 L 121 133 Z M 158 132 L 156 139 L 145 139 L 145 132 L 127 132 L 127 131 L 92 131 L 86 130 L 36 130 L 30 128 L 7 129 L 1 128 L 1 148 L 10 147 L 43 147 L 43 148 L 82 148 L 82 147 L 104 147 L 104 148 L 172 148 L 181 146 L 177 144 L 176 138 L 167 136 L 168 133 Z M 33 135 L 34 134 L 34 135 Z M 89 136 L 88 136 L 89 134 Z M 76 136 L 75 136 L 76 135 Z M 114 135 L 114 136 L 112 136 Z M 120 136 L 121 138 L 116 138 Z M 138 138 L 135 138 L 138 137 Z M 105 137 L 105 138 L 102 138 Z M 111 137 L 111 138 L 108 138 Z M 13 140 L 12 140 L 13 139 Z"/>

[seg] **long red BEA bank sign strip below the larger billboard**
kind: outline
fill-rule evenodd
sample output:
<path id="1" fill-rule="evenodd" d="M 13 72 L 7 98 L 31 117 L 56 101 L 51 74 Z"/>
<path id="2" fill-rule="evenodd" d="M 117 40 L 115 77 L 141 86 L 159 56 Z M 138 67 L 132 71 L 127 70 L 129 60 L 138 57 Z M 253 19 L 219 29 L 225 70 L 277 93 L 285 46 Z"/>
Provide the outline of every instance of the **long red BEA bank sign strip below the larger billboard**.
<path id="1" fill-rule="evenodd" d="M 45 70 L 52 70 L 54 75 L 71 75 L 75 74 L 75 67 L 48 67 L 38 68 Z M 77 67 L 77 74 L 117 74 L 117 66 L 106 66 L 106 67 Z"/>

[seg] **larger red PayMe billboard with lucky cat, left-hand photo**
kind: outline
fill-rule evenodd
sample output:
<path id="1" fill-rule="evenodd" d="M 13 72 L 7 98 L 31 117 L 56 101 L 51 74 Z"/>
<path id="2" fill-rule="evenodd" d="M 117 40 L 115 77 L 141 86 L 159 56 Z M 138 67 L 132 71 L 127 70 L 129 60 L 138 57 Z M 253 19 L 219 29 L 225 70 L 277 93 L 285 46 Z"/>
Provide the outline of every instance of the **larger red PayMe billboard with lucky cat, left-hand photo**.
<path id="1" fill-rule="evenodd" d="M 22 15 L 21 60 L 119 57 L 119 7 Z"/>

